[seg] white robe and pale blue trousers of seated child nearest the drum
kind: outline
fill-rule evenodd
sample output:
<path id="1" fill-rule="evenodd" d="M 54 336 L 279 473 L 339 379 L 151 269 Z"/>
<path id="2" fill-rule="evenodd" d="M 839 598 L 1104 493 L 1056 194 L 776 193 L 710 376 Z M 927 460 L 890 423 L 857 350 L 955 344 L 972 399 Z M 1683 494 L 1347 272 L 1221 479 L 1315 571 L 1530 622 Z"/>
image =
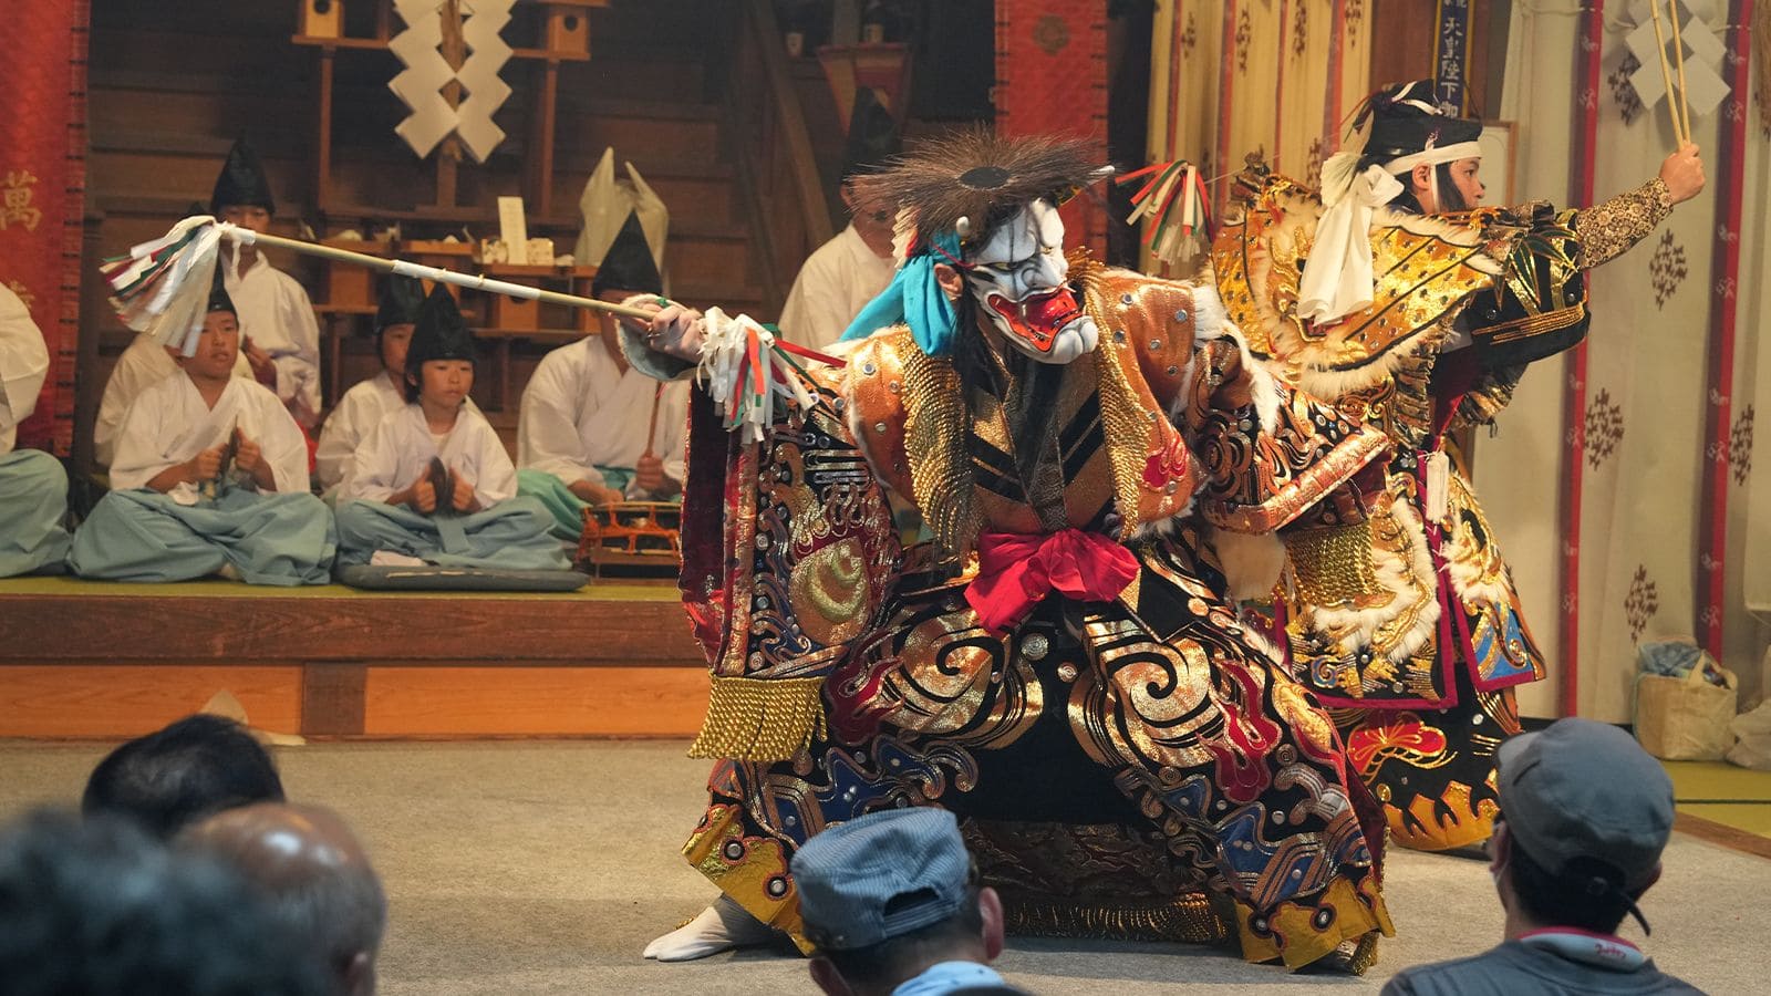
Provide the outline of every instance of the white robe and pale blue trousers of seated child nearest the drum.
<path id="1" fill-rule="evenodd" d="M 478 512 L 455 514 L 443 494 L 429 516 L 388 505 L 388 496 L 430 470 L 432 457 L 473 482 Z M 416 402 L 388 413 L 338 486 L 338 560 L 347 565 L 386 553 L 441 567 L 565 571 L 570 562 L 547 535 L 549 525 L 540 502 L 517 496 L 517 471 L 492 424 L 468 406 L 441 445 Z"/>

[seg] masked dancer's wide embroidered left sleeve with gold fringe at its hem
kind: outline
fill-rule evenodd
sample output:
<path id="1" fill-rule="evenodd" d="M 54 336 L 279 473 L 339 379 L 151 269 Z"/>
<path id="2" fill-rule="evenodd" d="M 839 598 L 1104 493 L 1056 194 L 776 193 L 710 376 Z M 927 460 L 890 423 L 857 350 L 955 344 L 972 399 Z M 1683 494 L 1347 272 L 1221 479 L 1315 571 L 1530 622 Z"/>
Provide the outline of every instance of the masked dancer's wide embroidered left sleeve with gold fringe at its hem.
<path id="1" fill-rule="evenodd" d="M 758 443 L 726 432 L 705 395 L 691 411 L 682 583 L 714 672 L 692 757 L 804 750 L 824 728 L 825 675 L 896 590 L 901 548 L 886 493 L 855 448 L 847 404 L 829 385 L 808 388 L 816 402 L 785 406 Z"/>

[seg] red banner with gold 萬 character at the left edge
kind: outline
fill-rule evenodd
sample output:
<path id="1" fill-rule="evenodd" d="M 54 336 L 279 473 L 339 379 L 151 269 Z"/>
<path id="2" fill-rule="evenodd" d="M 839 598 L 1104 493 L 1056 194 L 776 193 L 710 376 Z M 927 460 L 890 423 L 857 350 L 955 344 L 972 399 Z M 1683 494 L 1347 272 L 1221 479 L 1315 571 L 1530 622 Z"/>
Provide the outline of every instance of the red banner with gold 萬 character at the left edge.
<path id="1" fill-rule="evenodd" d="M 80 337 L 87 161 L 87 0 L 12 4 L 0 35 L 0 284 L 43 330 L 50 376 L 18 445 L 66 455 Z"/>

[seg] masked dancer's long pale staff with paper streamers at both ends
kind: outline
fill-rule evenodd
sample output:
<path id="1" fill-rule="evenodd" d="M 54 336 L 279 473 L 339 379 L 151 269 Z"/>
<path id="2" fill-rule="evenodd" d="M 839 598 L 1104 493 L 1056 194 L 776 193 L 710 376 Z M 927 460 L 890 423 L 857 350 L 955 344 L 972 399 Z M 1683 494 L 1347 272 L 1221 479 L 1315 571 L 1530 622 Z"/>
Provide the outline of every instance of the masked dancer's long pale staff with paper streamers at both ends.
<path id="1" fill-rule="evenodd" d="M 754 319 L 747 315 L 728 317 L 719 308 L 700 314 L 655 296 L 630 298 L 615 305 L 476 273 L 457 273 L 404 259 L 381 259 L 336 246 L 267 236 L 218 222 L 209 214 L 184 218 L 165 236 L 136 245 L 126 255 L 106 259 L 101 264 L 99 269 L 112 287 L 112 307 L 117 308 L 117 317 L 129 328 L 151 335 L 161 346 L 179 349 L 186 356 L 191 354 L 204 328 L 204 310 L 221 239 L 230 239 L 236 245 L 285 248 L 381 273 L 473 287 L 530 301 L 611 312 L 630 319 L 636 328 L 646 331 L 653 349 L 700 365 L 698 377 L 708 386 L 726 415 L 726 427 L 742 427 L 746 441 L 762 438 L 763 427 L 772 420 L 777 393 L 804 406 L 811 404 L 811 392 L 800 383 L 804 369 L 792 353 L 841 365 L 820 353 L 777 342 L 774 333 Z"/>

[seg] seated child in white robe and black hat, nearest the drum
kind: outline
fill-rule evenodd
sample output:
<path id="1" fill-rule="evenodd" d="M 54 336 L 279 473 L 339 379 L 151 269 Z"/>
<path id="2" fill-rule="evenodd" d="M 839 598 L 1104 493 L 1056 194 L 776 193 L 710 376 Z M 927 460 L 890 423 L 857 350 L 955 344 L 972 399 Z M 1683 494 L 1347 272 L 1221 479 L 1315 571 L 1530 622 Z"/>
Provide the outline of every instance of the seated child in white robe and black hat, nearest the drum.
<path id="1" fill-rule="evenodd" d="M 437 285 L 406 351 L 407 404 L 363 440 L 338 486 L 340 564 L 570 567 L 547 510 L 517 496 L 498 432 L 466 404 L 473 369 L 473 333 Z"/>

